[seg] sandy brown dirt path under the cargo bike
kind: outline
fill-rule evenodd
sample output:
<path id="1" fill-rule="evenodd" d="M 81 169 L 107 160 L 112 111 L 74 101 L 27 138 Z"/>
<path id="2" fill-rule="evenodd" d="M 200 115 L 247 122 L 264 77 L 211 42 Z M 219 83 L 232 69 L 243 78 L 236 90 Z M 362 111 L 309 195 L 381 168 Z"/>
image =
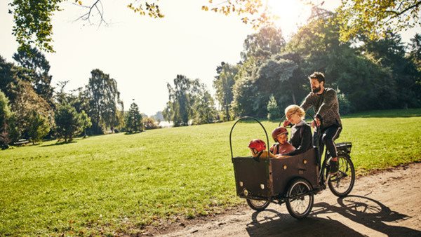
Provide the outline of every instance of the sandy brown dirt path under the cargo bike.
<path id="1" fill-rule="evenodd" d="M 271 204 L 262 212 L 244 205 L 171 229 L 161 235 L 421 236 L 421 163 L 360 177 L 346 198 L 326 189 L 315 196 L 309 217 L 300 221 L 290 217 L 285 205 Z"/>

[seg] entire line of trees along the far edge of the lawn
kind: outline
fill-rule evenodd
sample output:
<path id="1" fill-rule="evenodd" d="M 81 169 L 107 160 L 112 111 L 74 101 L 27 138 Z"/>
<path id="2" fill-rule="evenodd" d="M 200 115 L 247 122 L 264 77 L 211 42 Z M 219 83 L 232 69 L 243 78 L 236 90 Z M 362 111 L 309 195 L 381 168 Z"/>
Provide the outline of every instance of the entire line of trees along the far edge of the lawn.
<path id="1" fill-rule="evenodd" d="M 326 74 L 338 91 L 342 114 L 368 109 L 421 107 L 421 35 L 405 44 L 392 29 L 380 38 L 356 34 L 340 40 L 337 13 L 313 8 L 306 25 L 287 42 L 281 29 L 265 25 L 243 42 L 241 60 L 216 67 L 213 98 L 199 79 L 179 74 L 168 83 L 162 111 L 174 126 L 231 121 L 239 116 L 279 119 L 289 104 L 309 92 L 307 75 Z M 72 140 L 105 131 L 136 133 L 156 128 L 138 105 L 124 111 L 115 79 L 93 69 L 88 84 L 65 92 L 51 86 L 46 57 L 19 48 L 17 65 L 0 57 L 0 144 L 43 137 Z M 218 102 L 218 109 L 215 107 Z"/>

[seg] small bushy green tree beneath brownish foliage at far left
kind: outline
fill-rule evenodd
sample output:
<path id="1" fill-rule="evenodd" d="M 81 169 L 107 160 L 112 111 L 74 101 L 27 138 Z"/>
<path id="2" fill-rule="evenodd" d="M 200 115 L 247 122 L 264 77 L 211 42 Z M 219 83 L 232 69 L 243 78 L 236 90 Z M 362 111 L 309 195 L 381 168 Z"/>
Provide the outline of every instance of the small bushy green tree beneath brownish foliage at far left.
<path id="1" fill-rule="evenodd" d="M 50 132 L 50 126 L 47 118 L 33 110 L 31 116 L 29 116 L 29 126 L 27 130 L 29 140 L 32 144 L 35 144 L 35 142 L 41 141 L 42 138 Z"/>

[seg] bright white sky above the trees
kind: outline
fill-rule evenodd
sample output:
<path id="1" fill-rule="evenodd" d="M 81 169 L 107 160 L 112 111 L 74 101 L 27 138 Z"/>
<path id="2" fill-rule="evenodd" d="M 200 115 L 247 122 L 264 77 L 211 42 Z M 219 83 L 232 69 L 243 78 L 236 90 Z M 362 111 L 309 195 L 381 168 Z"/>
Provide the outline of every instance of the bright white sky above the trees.
<path id="1" fill-rule="evenodd" d="M 0 55 L 14 62 L 18 43 L 11 34 L 9 2 L 0 1 Z M 255 33 L 236 15 L 202 11 L 206 0 L 158 1 L 165 15 L 161 19 L 133 13 L 126 7 L 131 1 L 102 0 L 107 25 L 100 26 L 95 17 L 91 24 L 76 21 L 86 9 L 73 2 L 62 3 L 63 11 L 53 16 L 56 53 L 44 53 L 51 65 L 52 86 L 59 81 L 69 81 L 68 91 L 85 86 L 91 71 L 101 69 L 116 80 L 125 109 L 134 101 L 149 116 L 163 110 L 168 101 L 166 85 L 177 74 L 200 79 L 214 94 L 216 67 L 222 61 L 239 62 L 244 39 Z M 326 0 L 323 7 L 333 11 L 339 4 Z M 287 40 L 310 14 L 309 6 L 300 0 L 270 0 L 269 7 L 279 15 L 276 24 Z M 414 34 L 415 29 L 403 32 L 403 41 Z"/>

